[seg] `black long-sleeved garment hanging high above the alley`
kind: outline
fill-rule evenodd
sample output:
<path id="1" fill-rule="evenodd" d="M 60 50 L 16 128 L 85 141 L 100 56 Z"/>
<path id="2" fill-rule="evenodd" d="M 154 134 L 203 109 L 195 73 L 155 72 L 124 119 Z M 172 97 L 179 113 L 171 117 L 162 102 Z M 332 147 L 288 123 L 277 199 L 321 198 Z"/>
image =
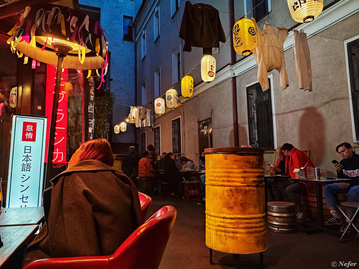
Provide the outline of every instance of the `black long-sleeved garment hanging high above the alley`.
<path id="1" fill-rule="evenodd" d="M 218 10 L 211 5 L 192 5 L 186 1 L 179 37 L 185 41 L 183 51 L 199 47 L 204 48 L 203 54 L 212 55 L 212 48 L 219 48 L 219 42 L 225 42 Z"/>

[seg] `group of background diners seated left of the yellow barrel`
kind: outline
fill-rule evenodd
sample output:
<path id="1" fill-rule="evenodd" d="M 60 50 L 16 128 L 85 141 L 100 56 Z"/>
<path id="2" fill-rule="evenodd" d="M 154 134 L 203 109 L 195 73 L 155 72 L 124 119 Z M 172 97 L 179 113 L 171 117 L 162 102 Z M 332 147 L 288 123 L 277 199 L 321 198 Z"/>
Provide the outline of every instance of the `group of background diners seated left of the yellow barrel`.
<path id="1" fill-rule="evenodd" d="M 204 151 L 201 154 L 195 154 L 199 157 L 199 168 L 198 171 L 202 171 L 205 166 L 205 156 Z M 178 192 L 178 187 L 182 181 L 188 181 L 188 178 L 185 178 L 181 173 L 183 169 L 196 169 L 194 162 L 184 156 L 179 159 L 176 158 L 176 155 L 173 152 L 163 152 L 162 155 L 158 155 L 155 152 L 154 146 L 149 144 L 147 150 L 142 152 L 142 159 L 139 158 L 139 154 L 135 151 L 135 147 L 131 146 L 130 150 L 126 154 L 126 166 L 127 166 L 127 175 L 131 175 L 133 171 L 137 174 L 139 178 L 149 179 L 151 182 L 151 192 L 154 193 L 157 191 L 155 186 L 155 181 L 162 178 L 160 176 L 160 171 L 163 171 L 165 174 L 165 180 L 172 184 L 172 195 L 178 197 L 180 193 Z M 202 200 L 205 201 L 205 182 L 206 175 L 200 175 L 201 181 L 201 196 L 198 200 L 198 204 L 201 204 Z"/>

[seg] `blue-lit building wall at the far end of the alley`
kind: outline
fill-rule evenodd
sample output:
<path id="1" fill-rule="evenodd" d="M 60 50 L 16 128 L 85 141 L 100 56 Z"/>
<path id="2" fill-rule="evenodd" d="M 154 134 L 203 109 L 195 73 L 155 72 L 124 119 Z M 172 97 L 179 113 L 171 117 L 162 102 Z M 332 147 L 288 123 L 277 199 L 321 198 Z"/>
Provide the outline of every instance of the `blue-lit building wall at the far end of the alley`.
<path id="1" fill-rule="evenodd" d="M 79 0 L 79 4 L 101 8 L 100 24 L 104 30 L 108 50 L 111 51 L 111 91 L 115 93 L 113 124 L 122 122 L 130 113 L 130 108 L 120 105 L 135 105 L 135 46 L 132 41 L 123 40 L 123 16 L 135 18 L 140 0 Z M 111 127 L 113 132 L 113 126 Z M 127 131 L 115 135 L 122 143 L 135 142 L 135 128 L 127 124 Z M 116 141 L 115 141 L 116 142 Z"/>

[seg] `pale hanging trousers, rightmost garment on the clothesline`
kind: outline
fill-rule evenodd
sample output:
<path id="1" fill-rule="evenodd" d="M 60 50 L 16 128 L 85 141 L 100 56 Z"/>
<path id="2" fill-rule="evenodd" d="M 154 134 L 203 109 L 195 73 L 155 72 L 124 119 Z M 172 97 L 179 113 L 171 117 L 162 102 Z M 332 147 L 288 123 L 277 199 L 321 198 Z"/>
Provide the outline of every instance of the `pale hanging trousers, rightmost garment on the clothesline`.
<path id="1" fill-rule="evenodd" d="M 295 70 L 299 79 L 299 89 L 312 91 L 312 67 L 307 34 L 294 32 Z"/>

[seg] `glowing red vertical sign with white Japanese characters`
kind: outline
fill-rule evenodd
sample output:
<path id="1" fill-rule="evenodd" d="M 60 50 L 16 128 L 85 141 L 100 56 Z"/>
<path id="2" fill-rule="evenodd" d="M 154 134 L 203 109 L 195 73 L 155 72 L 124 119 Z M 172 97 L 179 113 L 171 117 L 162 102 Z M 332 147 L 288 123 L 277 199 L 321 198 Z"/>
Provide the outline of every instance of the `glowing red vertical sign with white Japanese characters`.
<path id="1" fill-rule="evenodd" d="M 47 117 L 46 126 L 46 148 L 47 152 L 48 136 L 50 133 L 51 125 L 51 114 L 52 114 L 52 103 L 53 94 L 55 91 L 55 80 L 56 80 L 56 66 L 47 65 L 46 67 L 46 107 L 45 115 Z M 69 80 L 69 72 L 67 68 L 62 71 L 61 81 Z M 61 86 L 59 108 L 57 109 L 57 120 L 56 120 L 56 133 L 55 133 L 55 147 L 53 151 L 53 163 L 62 164 L 66 162 L 66 141 L 67 141 L 67 93 Z M 46 162 L 45 155 L 45 162 Z"/>

